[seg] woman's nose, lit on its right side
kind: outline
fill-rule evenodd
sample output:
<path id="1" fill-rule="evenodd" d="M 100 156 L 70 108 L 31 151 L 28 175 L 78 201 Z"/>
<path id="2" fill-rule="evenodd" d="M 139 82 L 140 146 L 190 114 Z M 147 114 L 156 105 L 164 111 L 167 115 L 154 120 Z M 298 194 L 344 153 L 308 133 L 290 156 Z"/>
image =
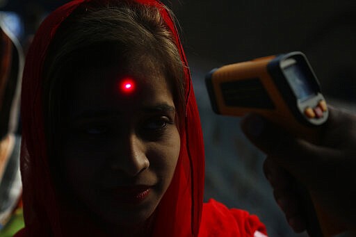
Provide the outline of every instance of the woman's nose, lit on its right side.
<path id="1" fill-rule="evenodd" d="M 111 164 L 113 170 L 120 170 L 130 177 L 135 177 L 149 167 L 145 142 L 135 135 L 129 136 L 126 142 L 119 142 L 121 144 L 118 145 L 117 151 L 120 151 L 115 152 Z"/>

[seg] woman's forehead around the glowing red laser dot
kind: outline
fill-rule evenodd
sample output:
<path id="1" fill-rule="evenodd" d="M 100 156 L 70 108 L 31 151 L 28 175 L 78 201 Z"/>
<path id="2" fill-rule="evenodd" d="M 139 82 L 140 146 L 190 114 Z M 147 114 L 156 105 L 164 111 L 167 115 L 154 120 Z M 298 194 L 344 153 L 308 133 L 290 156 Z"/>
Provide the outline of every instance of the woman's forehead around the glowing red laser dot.
<path id="1" fill-rule="evenodd" d="M 106 109 L 128 111 L 162 103 L 174 106 L 164 74 L 153 65 L 141 61 L 129 67 L 114 65 L 77 72 L 65 93 L 70 113 Z M 129 93 L 120 88 L 122 81 L 127 79 L 135 83 Z"/>

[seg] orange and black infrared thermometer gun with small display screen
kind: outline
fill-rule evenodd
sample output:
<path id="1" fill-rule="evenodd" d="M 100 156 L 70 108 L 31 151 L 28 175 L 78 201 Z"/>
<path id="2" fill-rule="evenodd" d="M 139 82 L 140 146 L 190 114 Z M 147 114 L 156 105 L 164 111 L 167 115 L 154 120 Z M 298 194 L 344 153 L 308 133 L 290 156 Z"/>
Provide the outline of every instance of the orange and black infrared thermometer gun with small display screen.
<path id="1" fill-rule="evenodd" d="M 298 138 L 318 143 L 329 111 L 306 56 L 291 52 L 216 68 L 205 79 L 213 111 L 257 113 Z M 310 236 L 334 236 L 343 229 L 305 191 Z M 304 196 L 304 195 L 303 195 Z"/>

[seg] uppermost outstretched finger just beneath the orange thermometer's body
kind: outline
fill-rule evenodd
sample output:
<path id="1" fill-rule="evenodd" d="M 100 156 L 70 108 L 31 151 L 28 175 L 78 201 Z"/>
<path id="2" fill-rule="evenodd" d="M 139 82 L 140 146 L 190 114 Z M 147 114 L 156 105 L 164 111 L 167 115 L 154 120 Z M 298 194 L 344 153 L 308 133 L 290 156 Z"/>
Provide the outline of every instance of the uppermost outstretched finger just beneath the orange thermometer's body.
<path id="1" fill-rule="evenodd" d="M 256 147 L 307 186 L 320 185 L 340 156 L 338 150 L 296 138 L 259 115 L 244 117 L 241 129 Z"/>

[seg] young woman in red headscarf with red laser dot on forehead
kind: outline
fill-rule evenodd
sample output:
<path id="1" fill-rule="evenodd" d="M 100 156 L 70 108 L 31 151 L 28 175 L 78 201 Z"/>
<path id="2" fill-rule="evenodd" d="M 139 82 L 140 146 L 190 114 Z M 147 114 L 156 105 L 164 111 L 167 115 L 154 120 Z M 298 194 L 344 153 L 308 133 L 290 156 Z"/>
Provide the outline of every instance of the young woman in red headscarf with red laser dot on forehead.
<path id="1" fill-rule="evenodd" d="M 71 1 L 26 58 L 17 236 L 254 236 L 254 215 L 203 204 L 191 76 L 159 1 Z"/>

